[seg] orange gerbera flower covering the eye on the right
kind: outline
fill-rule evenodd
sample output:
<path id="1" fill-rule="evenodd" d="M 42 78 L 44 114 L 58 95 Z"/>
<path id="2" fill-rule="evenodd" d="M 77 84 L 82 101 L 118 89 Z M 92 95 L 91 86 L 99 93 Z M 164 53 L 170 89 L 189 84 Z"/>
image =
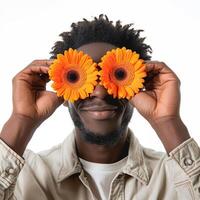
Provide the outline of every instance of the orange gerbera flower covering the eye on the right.
<path id="1" fill-rule="evenodd" d="M 146 67 L 136 52 L 125 47 L 113 49 L 102 57 L 99 66 L 100 84 L 114 98 L 130 99 L 144 87 Z"/>

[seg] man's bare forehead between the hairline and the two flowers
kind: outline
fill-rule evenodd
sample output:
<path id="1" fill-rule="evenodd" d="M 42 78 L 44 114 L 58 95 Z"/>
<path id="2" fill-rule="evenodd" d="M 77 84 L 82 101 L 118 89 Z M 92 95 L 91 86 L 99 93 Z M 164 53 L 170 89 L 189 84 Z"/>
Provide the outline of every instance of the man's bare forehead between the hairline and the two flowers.
<path id="1" fill-rule="evenodd" d="M 99 62 L 101 60 L 101 57 L 105 55 L 107 51 L 115 48 L 117 47 L 110 43 L 93 42 L 89 44 L 84 44 L 77 49 L 88 54 L 95 62 Z"/>

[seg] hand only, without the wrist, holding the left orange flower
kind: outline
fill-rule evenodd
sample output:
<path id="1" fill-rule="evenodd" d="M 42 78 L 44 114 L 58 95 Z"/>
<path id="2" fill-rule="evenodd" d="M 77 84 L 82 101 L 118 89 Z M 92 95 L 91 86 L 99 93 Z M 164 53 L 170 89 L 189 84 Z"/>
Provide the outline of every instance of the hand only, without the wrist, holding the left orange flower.
<path id="1" fill-rule="evenodd" d="M 46 91 L 52 60 L 35 60 L 13 78 L 13 114 L 28 117 L 40 124 L 47 119 L 63 99 Z"/>

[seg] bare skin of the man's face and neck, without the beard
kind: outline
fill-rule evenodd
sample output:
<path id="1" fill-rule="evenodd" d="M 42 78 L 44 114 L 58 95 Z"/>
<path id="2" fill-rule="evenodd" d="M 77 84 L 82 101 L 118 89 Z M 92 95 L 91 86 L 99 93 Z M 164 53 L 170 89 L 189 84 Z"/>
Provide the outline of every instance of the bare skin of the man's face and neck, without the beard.
<path id="1" fill-rule="evenodd" d="M 116 46 L 108 43 L 91 43 L 79 47 L 78 50 L 90 55 L 93 60 L 98 63 L 100 62 L 101 57 L 106 54 L 108 50 L 114 48 L 116 48 Z M 94 105 L 114 105 L 117 107 L 117 110 L 114 116 L 112 114 L 113 111 L 110 111 L 108 116 L 103 116 L 104 110 L 88 112 L 87 108 Z M 101 137 L 110 134 L 111 138 L 114 138 L 116 135 L 113 133 L 117 133 L 118 130 L 122 129 L 123 120 L 126 118 L 129 110 L 131 110 L 132 115 L 132 106 L 128 100 L 113 99 L 112 96 L 107 93 L 107 90 L 101 85 L 95 87 L 90 98 L 79 100 L 74 104 L 69 103 L 69 110 L 72 119 L 73 115 L 77 115 L 83 126 L 94 135 Z M 76 126 L 76 144 L 79 156 L 85 160 L 99 163 L 113 163 L 123 158 L 128 154 L 128 144 L 126 141 L 127 125 L 128 124 L 126 124 L 120 133 L 118 133 L 114 144 L 101 145 L 84 140 L 84 138 L 81 137 L 81 134 L 85 134 L 84 131 L 81 133 L 79 127 Z M 112 141 L 112 139 L 110 141 Z"/>

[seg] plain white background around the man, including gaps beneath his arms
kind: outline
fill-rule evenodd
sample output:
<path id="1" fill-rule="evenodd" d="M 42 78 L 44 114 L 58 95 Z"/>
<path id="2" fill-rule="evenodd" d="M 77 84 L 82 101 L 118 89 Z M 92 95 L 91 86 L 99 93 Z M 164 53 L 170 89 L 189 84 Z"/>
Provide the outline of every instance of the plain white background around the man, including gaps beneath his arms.
<path id="1" fill-rule="evenodd" d="M 12 77 L 34 59 L 49 58 L 58 35 L 70 24 L 107 14 L 114 22 L 144 29 L 153 60 L 164 61 L 181 79 L 181 116 L 200 144 L 200 4 L 198 0 L 18 0 L 0 1 L 0 127 L 12 111 Z M 135 111 L 130 123 L 146 147 L 164 151 L 149 124 Z M 28 148 L 35 152 L 55 145 L 73 124 L 61 106 L 36 131 Z M 169 133 L 170 137 L 170 133 Z"/>

